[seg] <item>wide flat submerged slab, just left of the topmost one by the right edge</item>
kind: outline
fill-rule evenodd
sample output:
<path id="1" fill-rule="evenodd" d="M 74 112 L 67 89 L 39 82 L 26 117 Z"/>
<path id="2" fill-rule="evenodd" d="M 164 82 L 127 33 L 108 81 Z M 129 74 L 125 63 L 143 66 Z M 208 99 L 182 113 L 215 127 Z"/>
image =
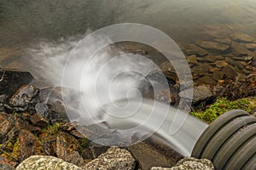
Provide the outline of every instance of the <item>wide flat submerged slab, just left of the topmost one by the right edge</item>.
<path id="1" fill-rule="evenodd" d="M 224 52 L 230 48 L 230 45 L 218 43 L 218 42 L 197 42 L 196 43 L 201 48 L 207 48 L 211 50 L 217 50 Z"/>

